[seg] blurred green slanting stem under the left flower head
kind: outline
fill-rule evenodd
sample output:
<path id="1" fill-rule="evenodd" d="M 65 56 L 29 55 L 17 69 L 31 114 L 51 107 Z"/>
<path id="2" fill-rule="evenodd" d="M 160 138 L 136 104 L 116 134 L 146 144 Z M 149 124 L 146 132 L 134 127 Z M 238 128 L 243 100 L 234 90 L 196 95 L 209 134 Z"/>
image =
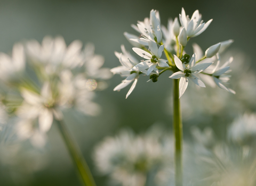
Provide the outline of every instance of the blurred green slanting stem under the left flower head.
<path id="1" fill-rule="evenodd" d="M 63 121 L 55 121 L 57 122 L 61 136 L 66 143 L 68 151 L 73 159 L 73 162 L 75 163 L 77 170 L 82 177 L 84 185 L 96 186 L 91 171 L 87 163 L 85 162 L 85 159 L 83 158 L 83 155 L 78 145 L 76 144 L 75 140 L 71 137 L 65 123 Z"/>

